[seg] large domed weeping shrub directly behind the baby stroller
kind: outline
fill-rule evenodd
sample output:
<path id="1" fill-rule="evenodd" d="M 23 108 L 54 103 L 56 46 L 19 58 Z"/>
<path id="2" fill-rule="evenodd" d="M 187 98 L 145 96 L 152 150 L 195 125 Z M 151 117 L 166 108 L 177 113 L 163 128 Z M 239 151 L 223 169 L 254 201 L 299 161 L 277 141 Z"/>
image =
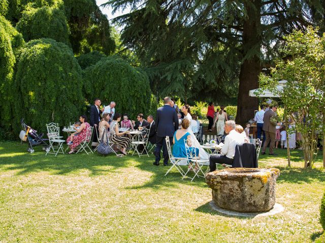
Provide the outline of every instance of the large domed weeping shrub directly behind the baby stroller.
<path id="1" fill-rule="evenodd" d="M 67 125 L 82 114 L 82 70 L 71 49 L 53 39 L 30 41 L 18 60 L 14 131 L 20 118 L 41 131 L 54 121 Z"/>

